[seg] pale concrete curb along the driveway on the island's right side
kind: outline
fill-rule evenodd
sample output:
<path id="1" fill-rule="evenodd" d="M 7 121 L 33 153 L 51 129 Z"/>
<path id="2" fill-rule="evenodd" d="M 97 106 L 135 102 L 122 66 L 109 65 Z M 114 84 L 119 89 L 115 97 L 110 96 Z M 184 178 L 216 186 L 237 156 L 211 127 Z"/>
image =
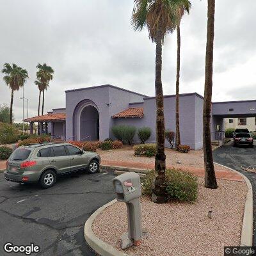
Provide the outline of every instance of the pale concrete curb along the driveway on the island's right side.
<path id="1" fill-rule="evenodd" d="M 214 162 L 215 163 L 215 162 Z M 218 164 L 218 163 L 215 163 Z M 240 246 L 252 246 L 252 237 L 253 237 L 253 194 L 252 194 L 252 184 L 250 180 L 243 173 L 237 172 L 236 170 L 224 166 L 222 164 L 218 164 L 222 167 L 225 167 L 233 172 L 239 173 L 245 180 L 247 185 L 247 195 L 246 201 L 244 204 L 244 217 L 243 217 L 243 225 L 241 232 L 241 244 Z"/>

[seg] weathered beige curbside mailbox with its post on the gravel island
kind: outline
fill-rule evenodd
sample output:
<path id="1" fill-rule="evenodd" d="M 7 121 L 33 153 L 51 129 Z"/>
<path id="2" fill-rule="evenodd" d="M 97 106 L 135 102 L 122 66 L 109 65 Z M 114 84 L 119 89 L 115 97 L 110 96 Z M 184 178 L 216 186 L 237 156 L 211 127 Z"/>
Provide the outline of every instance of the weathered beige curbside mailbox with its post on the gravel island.
<path id="1" fill-rule="evenodd" d="M 124 173 L 113 179 L 116 200 L 125 202 L 128 216 L 128 233 L 121 237 L 121 248 L 132 244 L 139 246 L 142 238 L 141 228 L 141 184 L 140 175 L 135 172 Z"/>

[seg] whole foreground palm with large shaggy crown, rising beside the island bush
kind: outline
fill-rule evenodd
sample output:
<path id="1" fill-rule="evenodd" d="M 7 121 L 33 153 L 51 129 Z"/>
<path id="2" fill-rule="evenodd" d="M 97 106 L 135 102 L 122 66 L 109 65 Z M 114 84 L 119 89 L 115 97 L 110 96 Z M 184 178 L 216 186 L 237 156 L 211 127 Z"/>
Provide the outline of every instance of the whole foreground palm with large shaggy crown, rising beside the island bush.
<path id="1" fill-rule="evenodd" d="M 164 154 L 164 97 L 162 86 L 162 45 L 164 36 L 172 33 L 177 26 L 178 4 L 180 0 L 134 0 L 132 25 L 141 30 L 147 26 L 148 37 L 156 43 L 156 145 L 155 170 L 157 177 L 154 181 L 153 202 L 166 202 Z"/>

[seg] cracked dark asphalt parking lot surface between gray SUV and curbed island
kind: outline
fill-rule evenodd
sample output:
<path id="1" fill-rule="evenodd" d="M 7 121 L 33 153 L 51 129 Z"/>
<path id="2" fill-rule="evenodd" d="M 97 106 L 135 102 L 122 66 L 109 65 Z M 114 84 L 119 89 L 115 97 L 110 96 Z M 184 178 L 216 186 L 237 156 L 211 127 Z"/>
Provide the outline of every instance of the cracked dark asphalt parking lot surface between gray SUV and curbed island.
<path id="1" fill-rule="evenodd" d="M 0 173 L 0 255 L 25 255 L 5 253 L 6 242 L 40 246 L 40 252 L 31 255 L 95 255 L 84 241 L 84 222 L 115 198 L 113 177 L 78 172 L 41 189 L 7 182 Z"/>

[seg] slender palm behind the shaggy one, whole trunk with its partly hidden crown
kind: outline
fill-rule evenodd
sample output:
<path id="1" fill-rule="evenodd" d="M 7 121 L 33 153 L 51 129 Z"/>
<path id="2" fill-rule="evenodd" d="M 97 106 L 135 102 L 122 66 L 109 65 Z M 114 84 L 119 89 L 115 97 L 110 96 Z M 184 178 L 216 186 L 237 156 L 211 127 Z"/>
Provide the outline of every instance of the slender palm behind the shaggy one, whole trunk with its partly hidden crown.
<path id="1" fill-rule="evenodd" d="M 176 72 L 176 138 L 175 148 L 180 145 L 180 115 L 179 115 L 179 86 L 180 86 L 180 21 L 184 12 L 189 13 L 191 3 L 189 1 L 180 1 L 179 22 L 177 24 L 177 72 Z"/>

